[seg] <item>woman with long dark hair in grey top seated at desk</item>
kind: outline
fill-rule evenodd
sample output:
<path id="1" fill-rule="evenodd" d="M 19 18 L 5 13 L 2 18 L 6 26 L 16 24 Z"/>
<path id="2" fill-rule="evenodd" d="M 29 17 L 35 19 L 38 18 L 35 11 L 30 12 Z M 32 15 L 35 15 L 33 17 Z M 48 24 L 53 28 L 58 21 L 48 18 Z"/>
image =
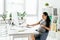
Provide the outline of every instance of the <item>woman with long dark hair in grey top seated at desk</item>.
<path id="1" fill-rule="evenodd" d="M 28 24 L 27 26 L 36 26 L 38 24 L 41 26 L 38 30 L 41 33 L 39 40 L 46 40 L 48 32 L 50 30 L 50 18 L 47 12 L 43 12 L 42 20 L 32 25 Z"/>

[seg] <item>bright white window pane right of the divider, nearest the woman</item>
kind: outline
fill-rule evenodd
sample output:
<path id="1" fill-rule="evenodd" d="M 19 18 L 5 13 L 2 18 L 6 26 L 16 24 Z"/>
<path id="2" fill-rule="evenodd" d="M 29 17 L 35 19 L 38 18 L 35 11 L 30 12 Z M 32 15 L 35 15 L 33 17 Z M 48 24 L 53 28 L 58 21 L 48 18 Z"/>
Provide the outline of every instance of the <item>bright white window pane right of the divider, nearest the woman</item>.
<path id="1" fill-rule="evenodd" d="M 37 14 L 37 0 L 26 0 L 26 12 L 28 15 Z"/>

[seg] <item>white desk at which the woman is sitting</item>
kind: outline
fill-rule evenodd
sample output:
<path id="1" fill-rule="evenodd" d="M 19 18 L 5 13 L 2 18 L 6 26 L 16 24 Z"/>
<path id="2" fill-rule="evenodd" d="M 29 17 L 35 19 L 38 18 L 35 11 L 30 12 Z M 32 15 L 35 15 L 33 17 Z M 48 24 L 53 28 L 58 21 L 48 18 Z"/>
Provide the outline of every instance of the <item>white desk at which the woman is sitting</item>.
<path id="1" fill-rule="evenodd" d="M 35 31 L 33 28 L 26 28 L 26 27 L 11 27 L 8 30 L 8 34 L 13 37 L 13 40 L 17 40 L 17 38 L 20 38 L 20 40 L 32 40 L 31 36 L 32 34 L 39 34 L 37 31 Z"/>

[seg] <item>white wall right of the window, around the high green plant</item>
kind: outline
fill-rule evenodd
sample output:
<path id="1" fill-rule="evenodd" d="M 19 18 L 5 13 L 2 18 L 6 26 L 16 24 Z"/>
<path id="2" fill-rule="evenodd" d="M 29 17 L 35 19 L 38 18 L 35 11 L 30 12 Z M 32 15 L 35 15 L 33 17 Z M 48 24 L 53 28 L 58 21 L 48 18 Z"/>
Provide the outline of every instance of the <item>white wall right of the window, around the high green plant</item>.
<path id="1" fill-rule="evenodd" d="M 49 6 L 54 8 L 60 8 L 60 0 L 39 0 L 39 19 L 41 19 L 42 8 L 45 8 L 45 3 L 49 3 Z"/>

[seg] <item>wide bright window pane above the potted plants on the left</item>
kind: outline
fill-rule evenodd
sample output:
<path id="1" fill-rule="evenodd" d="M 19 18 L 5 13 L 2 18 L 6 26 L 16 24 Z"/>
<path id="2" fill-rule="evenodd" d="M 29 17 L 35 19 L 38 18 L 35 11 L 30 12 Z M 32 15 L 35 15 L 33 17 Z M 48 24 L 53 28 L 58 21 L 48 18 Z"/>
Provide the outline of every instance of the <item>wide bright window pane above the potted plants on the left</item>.
<path id="1" fill-rule="evenodd" d="M 6 11 L 23 12 L 24 7 L 24 0 L 6 0 Z"/>

